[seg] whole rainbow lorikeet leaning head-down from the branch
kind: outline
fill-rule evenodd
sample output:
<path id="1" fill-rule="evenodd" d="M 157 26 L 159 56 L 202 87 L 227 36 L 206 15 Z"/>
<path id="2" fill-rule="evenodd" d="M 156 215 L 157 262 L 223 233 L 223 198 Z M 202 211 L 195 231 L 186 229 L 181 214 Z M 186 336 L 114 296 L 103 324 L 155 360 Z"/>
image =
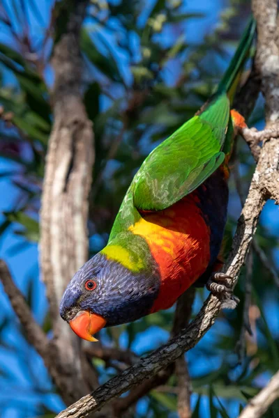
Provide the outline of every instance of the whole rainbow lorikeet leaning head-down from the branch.
<path id="1" fill-rule="evenodd" d="M 83 339 L 167 309 L 211 277 L 227 217 L 232 141 L 246 126 L 231 104 L 254 33 L 251 20 L 216 93 L 146 157 L 107 246 L 68 284 L 60 314 Z"/>

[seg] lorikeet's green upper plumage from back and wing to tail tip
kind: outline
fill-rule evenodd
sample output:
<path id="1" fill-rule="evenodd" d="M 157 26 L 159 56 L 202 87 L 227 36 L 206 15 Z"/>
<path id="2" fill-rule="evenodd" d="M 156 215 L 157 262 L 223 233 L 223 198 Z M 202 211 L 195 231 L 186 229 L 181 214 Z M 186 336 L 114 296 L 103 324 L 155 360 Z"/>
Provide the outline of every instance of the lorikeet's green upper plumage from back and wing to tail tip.
<path id="1" fill-rule="evenodd" d="M 117 240 L 121 231 L 128 231 L 139 220 L 142 210 L 172 206 L 222 164 L 233 133 L 230 103 L 254 33 L 255 22 L 251 19 L 217 92 L 202 113 L 184 123 L 146 158 L 123 200 L 110 242 Z M 128 240 L 126 244 L 129 245 Z"/>

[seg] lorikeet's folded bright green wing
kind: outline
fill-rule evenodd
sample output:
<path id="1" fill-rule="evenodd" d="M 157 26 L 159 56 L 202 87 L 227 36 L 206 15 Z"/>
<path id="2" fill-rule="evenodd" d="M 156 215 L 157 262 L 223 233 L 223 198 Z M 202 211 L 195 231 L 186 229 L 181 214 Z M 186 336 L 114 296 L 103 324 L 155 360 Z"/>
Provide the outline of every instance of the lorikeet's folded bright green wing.
<path id="1" fill-rule="evenodd" d="M 163 210 L 193 192 L 224 161 L 229 99 L 218 95 L 143 162 L 131 185 L 138 210 Z"/>

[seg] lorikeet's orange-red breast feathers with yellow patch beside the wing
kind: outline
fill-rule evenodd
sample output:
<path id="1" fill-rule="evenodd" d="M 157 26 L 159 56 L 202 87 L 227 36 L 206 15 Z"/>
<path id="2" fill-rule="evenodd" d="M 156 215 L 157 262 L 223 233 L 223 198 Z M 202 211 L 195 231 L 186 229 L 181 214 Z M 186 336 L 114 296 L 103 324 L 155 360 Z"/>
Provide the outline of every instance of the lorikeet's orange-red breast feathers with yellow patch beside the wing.
<path id="1" fill-rule="evenodd" d="M 192 193 L 170 208 L 146 213 L 130 231 L 149 245 L 160 270 L 160 291 L 151 312 L 167 309 L 206 270 L 210 230 Z"/>

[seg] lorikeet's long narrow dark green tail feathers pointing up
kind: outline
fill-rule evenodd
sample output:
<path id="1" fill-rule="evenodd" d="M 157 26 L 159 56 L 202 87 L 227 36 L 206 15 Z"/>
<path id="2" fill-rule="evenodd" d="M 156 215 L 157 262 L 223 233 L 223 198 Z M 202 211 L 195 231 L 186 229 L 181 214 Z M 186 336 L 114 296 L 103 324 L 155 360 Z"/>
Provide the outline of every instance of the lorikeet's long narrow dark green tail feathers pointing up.
<path id="1" fill-rule="evenodd" d="M 232 61 L 229 63 L 229 67 L 227 68 L 227 71 L 225 72 L 225 75 L 223 76 L 223 79 L 221 80 L 216 91 L 217 94 L 227 92 L 227 96 L 229 97 L 230 102 L 232 102 L 234 99 L 243 66 L 246 63 L 246 59 L 250 53 L 250 47 L 255 35 L 255 30 L 255 19 L 250 17 L 250 21 L 248 22 L 248 25 L 243 32 L 239 46 L 237 47 Z"/>

